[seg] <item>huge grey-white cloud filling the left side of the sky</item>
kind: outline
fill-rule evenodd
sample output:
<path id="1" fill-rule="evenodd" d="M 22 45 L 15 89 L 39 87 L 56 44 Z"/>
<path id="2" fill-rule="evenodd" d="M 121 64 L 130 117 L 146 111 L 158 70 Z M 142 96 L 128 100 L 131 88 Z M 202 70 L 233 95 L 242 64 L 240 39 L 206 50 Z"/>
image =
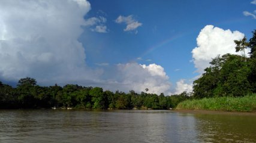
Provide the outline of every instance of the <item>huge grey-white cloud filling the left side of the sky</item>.
<path id="1" fill-rule="evenodd" d="M 77 41 L 87 1 L 0 1 L 0 79 L 39 82 L 97 79 Z M 83 73 L 83 74 L 80 74 Z"/>

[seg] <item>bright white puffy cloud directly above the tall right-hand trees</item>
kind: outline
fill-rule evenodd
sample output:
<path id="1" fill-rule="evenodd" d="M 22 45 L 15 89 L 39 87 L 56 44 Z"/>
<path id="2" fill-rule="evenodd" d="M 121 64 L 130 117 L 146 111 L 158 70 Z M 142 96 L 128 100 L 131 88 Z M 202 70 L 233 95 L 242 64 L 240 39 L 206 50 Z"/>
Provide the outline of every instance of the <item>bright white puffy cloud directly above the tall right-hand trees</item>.
<path id="1" fill-rule="evenodd" d="M 212 25 L 205 26 L 197 37 L 197 47 L 192 50 L 192 57 L 198 73 L 203 73 L 209 62 L 217 55 L 237 54 L 234 40 L 245 35 L 238 31 L 224 30 Z M 246 49 L 246 53 L 249 49 Z"/>

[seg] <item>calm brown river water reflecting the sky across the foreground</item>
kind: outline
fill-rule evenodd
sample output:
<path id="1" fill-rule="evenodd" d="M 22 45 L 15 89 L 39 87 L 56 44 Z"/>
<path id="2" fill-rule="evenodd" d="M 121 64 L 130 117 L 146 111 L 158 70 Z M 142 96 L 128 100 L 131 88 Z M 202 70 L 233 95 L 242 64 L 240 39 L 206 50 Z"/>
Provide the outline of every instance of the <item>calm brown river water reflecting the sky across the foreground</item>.
<path id="1" fill-rule="evenodd" d="M 0 142 L 256 142 L 256 116 L 0 110 Z"/>

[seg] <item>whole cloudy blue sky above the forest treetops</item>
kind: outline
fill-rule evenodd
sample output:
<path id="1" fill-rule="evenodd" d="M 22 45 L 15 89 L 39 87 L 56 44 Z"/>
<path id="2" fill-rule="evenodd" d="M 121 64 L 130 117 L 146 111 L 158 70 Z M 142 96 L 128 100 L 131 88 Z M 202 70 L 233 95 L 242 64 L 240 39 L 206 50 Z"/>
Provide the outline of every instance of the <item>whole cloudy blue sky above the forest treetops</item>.
<path id="1" fill-rule="evenodd" d="M 165 95 L 191 92 L 256 26 L 256 0 L 2 0 L 0 13 L 4 83 Z"/>

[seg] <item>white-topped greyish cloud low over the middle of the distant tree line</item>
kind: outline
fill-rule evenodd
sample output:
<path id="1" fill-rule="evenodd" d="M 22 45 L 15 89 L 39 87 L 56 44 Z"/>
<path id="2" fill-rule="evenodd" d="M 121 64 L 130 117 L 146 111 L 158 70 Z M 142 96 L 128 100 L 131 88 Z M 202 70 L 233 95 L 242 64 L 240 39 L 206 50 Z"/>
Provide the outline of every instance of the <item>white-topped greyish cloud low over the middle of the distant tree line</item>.
<path id="1" fill-rule="evenodd" d="M 148 88 L 149 92 L 153 94 L 161 94 L 161 92 L 167 94 L 169 92 L 171 86 L 169 77 L 164 68 L 159 65 L 149 64 L 146 66 L 128 63 L 119 65 L 119 70 L 125 74 L 123 83 L 131 84 L 132 89 L 137 92 L 144 91 L 145 88 Z"/>

